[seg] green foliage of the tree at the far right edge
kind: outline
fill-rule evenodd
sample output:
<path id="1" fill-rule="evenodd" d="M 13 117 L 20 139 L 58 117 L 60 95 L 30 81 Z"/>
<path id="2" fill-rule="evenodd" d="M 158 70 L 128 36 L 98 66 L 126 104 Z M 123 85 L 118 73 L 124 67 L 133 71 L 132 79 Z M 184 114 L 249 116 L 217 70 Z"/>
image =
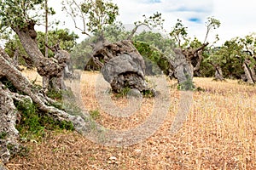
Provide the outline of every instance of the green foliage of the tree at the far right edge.
<path id="1" fill-rule="evenodd" d="M 249 59 L 252 68 L 256 63 L 252 56 L 255 50 L 254 39 L 253 35 L 244 38 L 236 37 L 224 42 L 221 47 L 208 49 L 201 67 L 203 76 L 209 76 L 210 65 L 219 65 L 225 78 L 241 78 L 241 75 L 244 74 L 242 67 L 244 60 Z M 214 69 L 212 71 L 213 74 Z"/>

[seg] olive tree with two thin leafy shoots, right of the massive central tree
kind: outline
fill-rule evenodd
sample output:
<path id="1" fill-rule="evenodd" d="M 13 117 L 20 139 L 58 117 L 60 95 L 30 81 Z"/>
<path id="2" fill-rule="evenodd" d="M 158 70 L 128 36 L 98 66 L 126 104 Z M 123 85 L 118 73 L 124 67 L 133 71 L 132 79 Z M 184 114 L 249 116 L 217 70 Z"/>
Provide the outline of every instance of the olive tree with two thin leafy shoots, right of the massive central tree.
<path id="1" fill-rule="evenodd" d="M 194 73 L 200 70 L 201 61 L 203 59 L 203 51 L 209 44 L 207 37 L 212 29 L 218 28 L 220 22 L 209 17 L 206 23 L 207 34 L 204 43 L 199 42 L 196 38 L 189 42 L 187 27 L 183 26 L 182 20 L 177 20 L 175 26 L 172 27 L 170 36 L 177 42 L 174 48 L 174 54 L 171 54 L 170 61 L 173 68 L 176 68 L 176 75 L 180 87 L 183 89 L 192 89 Z"/>

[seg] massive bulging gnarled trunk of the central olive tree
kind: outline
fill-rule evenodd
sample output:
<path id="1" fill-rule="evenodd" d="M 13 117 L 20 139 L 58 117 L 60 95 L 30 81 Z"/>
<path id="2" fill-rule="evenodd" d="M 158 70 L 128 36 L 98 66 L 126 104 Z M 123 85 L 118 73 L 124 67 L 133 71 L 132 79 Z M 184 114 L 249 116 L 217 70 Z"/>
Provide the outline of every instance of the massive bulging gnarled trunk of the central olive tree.
<path id="1" fill-rule="evenodd" d="M 102 75 L 114 92 L 119 93 L 123 88 L 136 88 L 140 92 L 153 90 L 148 88 L 145 80 L 143 57 L 130 40 L 114 43 L 100 41 L 92 56 L 102 67 Z"/>

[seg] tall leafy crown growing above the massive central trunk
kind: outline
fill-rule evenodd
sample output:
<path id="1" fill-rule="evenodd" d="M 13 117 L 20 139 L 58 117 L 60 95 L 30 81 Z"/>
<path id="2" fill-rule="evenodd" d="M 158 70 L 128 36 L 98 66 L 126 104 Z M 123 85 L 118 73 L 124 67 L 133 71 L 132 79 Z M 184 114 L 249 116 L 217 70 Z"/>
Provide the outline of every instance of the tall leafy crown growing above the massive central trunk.
<path id="1" fill-rule="evenodd" d="M 102 35 L 105 26 L 112 25 L 119 15 L 118 6 L 111 1 L 84 0 L 83 3 L 77 3 L 75 0 L 65 0 L 62 5 L 63 10 L 73 18 L 75 25 L 77 17 L 84 23 L 83 28 L 75 27 L 86 35 L 95 31 Z"/>

